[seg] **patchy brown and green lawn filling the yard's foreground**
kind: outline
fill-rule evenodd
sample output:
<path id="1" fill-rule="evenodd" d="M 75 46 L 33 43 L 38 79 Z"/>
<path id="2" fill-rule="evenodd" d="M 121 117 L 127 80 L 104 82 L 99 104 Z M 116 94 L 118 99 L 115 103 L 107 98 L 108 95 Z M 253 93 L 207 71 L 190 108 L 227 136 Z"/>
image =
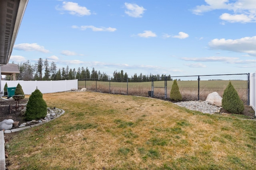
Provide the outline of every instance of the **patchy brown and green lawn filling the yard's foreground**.
<path id="1" fill-rule="evenodd" d="M 9 169 L 255 169 L 256 121 L 97 92 L 44 94 L 66 112 L 5 134 Z"/>

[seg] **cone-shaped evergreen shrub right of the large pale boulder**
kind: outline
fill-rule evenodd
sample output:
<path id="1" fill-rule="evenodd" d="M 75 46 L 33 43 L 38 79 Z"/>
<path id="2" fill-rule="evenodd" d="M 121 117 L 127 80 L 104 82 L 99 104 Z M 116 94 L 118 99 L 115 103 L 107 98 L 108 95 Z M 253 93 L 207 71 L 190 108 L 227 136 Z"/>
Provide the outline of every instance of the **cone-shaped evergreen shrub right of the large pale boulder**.
<path id="1" fill-rule="evenodd" d="M 238 96 L 238 93 L 231 82 L 224 90 L 222 96 L 222 107 L 230 113 L 241 113 L 244 111 L 244 103 Z"/>

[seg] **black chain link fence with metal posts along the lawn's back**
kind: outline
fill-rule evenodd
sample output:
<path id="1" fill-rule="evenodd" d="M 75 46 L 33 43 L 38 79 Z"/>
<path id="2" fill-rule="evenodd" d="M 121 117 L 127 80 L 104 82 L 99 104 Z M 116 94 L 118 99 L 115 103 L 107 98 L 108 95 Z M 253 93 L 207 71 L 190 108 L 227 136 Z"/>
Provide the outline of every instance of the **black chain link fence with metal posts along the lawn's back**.
<path id="1" fill-rule="evenodd" d="M 206 100 L 208 94 L 218 92 L 223 95 L 231 82 L 238 95 L 249 105 L 250 74 L 217 74 L 200 76 L 171 76 L 151 78 L 116 78 L 116 79 L 78 79 L 78 88 L 133 96 L 170 98 L 174 80 L 177 80 L 183 100 Z"/>

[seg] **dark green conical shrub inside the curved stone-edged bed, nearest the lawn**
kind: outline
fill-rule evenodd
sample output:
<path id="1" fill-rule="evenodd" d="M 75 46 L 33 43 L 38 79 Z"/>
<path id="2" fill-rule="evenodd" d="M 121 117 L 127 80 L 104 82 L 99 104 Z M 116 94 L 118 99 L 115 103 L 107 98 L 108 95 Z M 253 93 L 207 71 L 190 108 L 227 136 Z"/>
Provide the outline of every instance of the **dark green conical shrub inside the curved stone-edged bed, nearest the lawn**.
<path id="1" fill-rule="evenodd" d="M 36 89 L 30 95 L 26 106 L 25 119 L 31 121 L 33 119 L 42 119 L 47 114 L 47 105 L 43 99 L 43 94 Z"/>

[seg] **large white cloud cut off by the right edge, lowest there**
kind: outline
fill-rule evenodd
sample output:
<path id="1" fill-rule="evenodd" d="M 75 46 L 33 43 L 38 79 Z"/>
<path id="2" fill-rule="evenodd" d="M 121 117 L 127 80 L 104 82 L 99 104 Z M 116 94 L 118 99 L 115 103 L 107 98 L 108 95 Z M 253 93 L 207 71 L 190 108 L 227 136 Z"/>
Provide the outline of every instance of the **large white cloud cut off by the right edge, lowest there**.
<path id="1" fill-rule="evenodd" d="M 213 39 L 208 43 L 211 49 L 221 49 L 256 56 L 256 36 L 241 39 Z"/>

